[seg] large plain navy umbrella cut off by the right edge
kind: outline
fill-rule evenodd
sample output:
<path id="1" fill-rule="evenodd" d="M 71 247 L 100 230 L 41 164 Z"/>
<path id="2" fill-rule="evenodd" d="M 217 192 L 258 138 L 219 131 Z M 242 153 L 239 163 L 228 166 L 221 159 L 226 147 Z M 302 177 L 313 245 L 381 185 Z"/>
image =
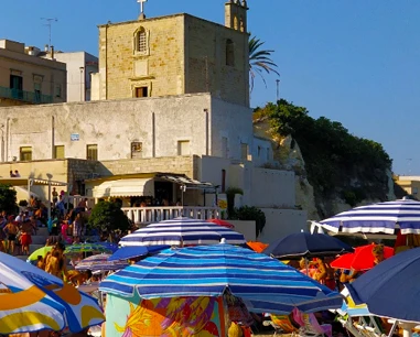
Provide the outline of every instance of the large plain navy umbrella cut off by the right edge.
<path id="1" fill-rule="evenodd" d="M 420 323 L 420 248 L 398 253 L 346 284 L 356 304 L 374 315 Z"/>

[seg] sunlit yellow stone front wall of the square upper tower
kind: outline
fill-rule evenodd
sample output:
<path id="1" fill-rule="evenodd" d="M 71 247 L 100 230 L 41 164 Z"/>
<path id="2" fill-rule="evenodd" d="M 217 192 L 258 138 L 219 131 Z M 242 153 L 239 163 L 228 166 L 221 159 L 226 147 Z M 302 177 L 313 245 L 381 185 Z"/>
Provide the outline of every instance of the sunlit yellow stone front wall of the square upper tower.
<path id="1" fill-rule="evenodd" d="M 99 26 L 101 99 L 134 97 L 137 86 L 150 88 L 149 96 L 184 94 L 183 21 L 177 14 Z M 148 52 L 140 54 L 134 39 L 141 28 Z"/>

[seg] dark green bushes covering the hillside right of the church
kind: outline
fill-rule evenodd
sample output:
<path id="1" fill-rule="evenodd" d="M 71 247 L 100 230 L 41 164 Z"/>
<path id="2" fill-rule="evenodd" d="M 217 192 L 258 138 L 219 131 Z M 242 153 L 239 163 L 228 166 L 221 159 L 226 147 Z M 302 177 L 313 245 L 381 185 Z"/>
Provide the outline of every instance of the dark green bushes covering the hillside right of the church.
<path id="1" fill-rule="evenodd" d="M 321 217 L 331 216 L 322 206 L 326 199 L 341 198 L 352 207 L 364 199 L 387 199 L 391 160 L 381 144 L 325 117 L 314 119 L 284 99 L 257 108 L 254 119 L 261 118 L 268 119 L 271 138 L 291 135 L 291 148 L 299 144 L 305 166 L 297 174 L 313 186 Z"/>

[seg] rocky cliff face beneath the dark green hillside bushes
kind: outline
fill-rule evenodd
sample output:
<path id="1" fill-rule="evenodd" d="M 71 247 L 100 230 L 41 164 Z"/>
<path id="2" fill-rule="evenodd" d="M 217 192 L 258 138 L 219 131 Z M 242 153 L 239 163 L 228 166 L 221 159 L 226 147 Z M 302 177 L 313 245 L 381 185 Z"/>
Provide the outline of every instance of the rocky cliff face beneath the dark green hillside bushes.
<path id="1" fill-rule="evenodd" d="M 259 117 L 254 121 L 255 134 L 269 139 L 272 143 L 276 168 L 294 171 L 297 205 L 308 211 L 309 220 L 320 220 L 333 216 L 340 211 L 347 210 L 354 206 L 366 205 L 376 202 L 395 199 L 392 174 L 389 168 L 377 172 L 376 175 L 366 175 L 365 170 L 370 167 L 355 166 L 346 167 L 346 178 L 337 182 L 333 192 L 323 193 L 316 191 L 309 180 L 305 159 L 295 139 L 290 134 L 282 137 L 274 132 L 270 119 L 267 116 Z M 343 170 L 343 167 L 335 167 Z M 362 191 L 364 197 L 358 197 L 357 203 L 349 205 L 349 191 Z M 344 198 L 343 196 L 346 196 Z"/>

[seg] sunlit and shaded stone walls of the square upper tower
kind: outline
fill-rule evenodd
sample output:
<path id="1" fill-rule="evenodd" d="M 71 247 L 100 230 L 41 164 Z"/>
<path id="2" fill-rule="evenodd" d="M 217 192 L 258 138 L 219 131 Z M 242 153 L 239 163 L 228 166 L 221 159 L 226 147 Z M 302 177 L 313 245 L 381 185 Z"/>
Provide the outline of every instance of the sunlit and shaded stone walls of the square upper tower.
<path id="1" fill-rule="evenodd" d="M 144 29 L 148 47 L 136 51 Z M 235 63 L 226 65 L 226 41 Z M 249 106 L 248 34 L 189 14 L 175 14 L 99 26 L 99 99 L 212 93 Z M 95 84 L 96 87 L 96 84 Z"/>

